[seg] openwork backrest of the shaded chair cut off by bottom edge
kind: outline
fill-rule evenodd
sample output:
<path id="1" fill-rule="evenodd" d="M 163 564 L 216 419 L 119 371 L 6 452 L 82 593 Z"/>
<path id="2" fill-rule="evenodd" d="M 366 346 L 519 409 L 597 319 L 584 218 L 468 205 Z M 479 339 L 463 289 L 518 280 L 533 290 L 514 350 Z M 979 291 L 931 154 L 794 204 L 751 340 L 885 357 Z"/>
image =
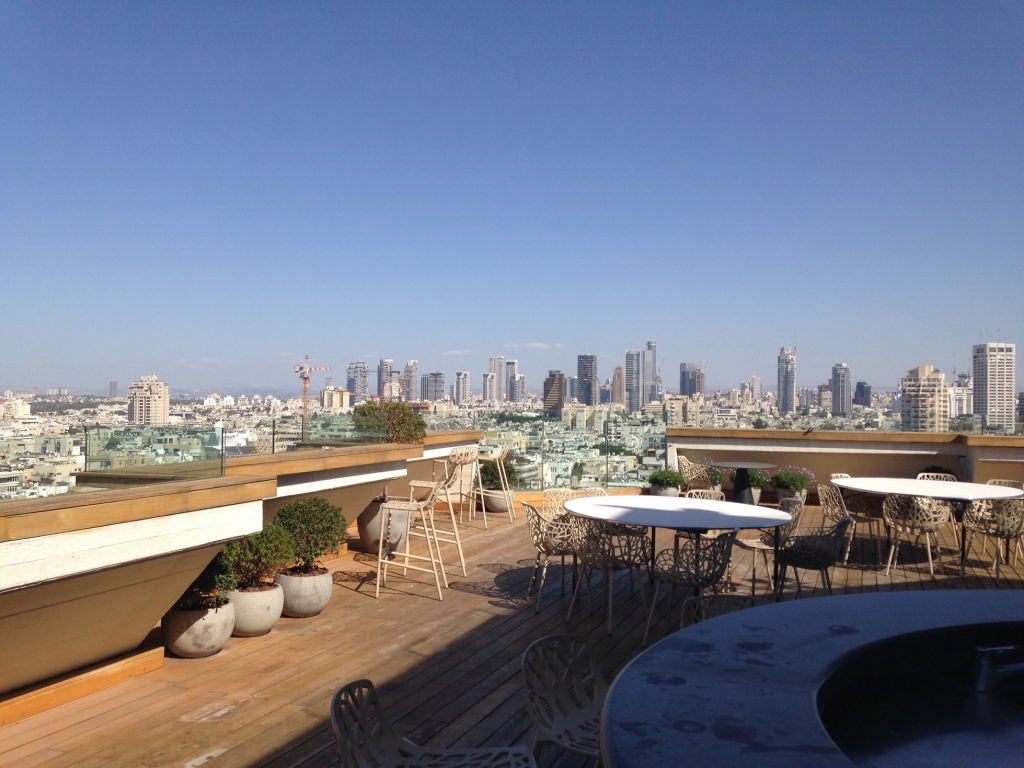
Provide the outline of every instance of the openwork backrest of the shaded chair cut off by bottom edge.
<path id="1" fill-rule="evenodd" d="M 341 768 L 386 768 L 400 759 L 398 737 L 369 680 L 356 680 L 334 694 L 331 727 Z"/>

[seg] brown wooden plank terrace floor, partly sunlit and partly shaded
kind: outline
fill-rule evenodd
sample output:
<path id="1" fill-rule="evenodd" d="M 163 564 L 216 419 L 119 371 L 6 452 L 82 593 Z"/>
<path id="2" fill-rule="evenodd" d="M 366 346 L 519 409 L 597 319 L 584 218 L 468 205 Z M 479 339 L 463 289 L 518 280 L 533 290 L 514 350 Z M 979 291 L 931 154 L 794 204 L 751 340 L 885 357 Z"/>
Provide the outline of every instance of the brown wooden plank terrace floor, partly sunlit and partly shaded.
<path id="1" fill-rule="evenodd" d="M 479 520 L 468 523 L 464 541 L 468 575 L 452 578 L 442 602 L 423 574 L 390 577 L 382 599 L 375 600 L 369 556 L 349 554 L 330 563 L 337 586 L 321 615 L 283 618 L 261 638 L 232 638 L 211 658 L 168 658 L 163 670 L 2 728 L 0 765 L 335 765 L 329 701 L 340 685 L 364 677 L 377 684 L 396 728 L 413 740 L 528 744 L 519 685 L 525 647 L 548 634 L 584 634 L 610 680 L 640 650 L 640 596 L 622 574 L 610 636 L 597 599 L 593 612 L 584 601 L 567 626 L 568 592 L 560 597 L 557 567 L 549 571 L 540 613 L 522 599 L 535 553 L 521 514 L 515 523 L 492 516 L 488 530 Z M 668 537 L 665 542 L 671 545 Z M 988 567 L 991 546 L 984 561 L 980 551 L 974 553 L 962 578 L 951 536 L 944 535 L 942 545 L 934 579 L 924 549 L 908 545 L 902 549 L 905 565 L 886 577 L 874 564 L 873 544 L 858 539 L 850 564 L 836 569 L 836 590 L 997 587 Z M 736 555 L 733 580 L 737 592 L 748 593 L 750 554 Z M 1020 589 L 1024 561 L 1007 566 L 998 587 Z M 821 594 L 816 582 L 816 574 L 804 575 L 805 598 Z M 794 596 L 791 582 L 786 599 Z M 555 763 L 583 761 L 553 750 L 542 757 L 542 766 Z"/>

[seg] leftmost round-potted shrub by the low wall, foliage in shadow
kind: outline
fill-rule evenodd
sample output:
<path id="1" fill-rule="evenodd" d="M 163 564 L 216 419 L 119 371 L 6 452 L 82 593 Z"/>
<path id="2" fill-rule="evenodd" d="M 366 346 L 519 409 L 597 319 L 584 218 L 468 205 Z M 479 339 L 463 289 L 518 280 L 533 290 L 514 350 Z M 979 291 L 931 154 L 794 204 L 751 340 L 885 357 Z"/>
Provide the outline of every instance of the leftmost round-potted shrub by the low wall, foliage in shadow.
<path id="1" fill-rule="evenodd" d="M 219 652 L 234 629 L 234 605 L 226 597 L 233 588 L 231 570 L 218 552 L 160 620 L 164 647 L 182 658 Z"/>

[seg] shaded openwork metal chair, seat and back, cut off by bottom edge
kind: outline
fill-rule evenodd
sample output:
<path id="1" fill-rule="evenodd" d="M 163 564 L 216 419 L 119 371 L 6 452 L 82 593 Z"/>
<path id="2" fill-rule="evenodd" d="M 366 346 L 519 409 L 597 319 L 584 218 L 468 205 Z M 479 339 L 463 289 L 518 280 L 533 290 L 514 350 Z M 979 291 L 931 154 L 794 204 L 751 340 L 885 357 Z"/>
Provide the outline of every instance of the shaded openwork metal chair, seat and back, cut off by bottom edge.
<path id="1" fill-rule="evenodd" d="M 438 750 L 399 738 L 369 680 L 334 694 L 331 728 L 341 768 L 537 768 L 525 746 Z"/>

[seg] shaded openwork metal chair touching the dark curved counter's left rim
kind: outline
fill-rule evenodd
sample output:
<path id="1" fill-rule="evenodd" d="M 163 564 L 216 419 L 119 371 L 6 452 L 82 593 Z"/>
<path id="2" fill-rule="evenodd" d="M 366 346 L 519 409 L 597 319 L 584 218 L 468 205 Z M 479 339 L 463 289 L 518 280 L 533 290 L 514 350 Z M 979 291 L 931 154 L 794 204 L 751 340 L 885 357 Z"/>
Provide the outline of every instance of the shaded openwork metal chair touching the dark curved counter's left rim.
<path id="1" fill-rule="evenodd" d="M 579 635 L 551 635 L 522 654 L 526 712 L 537 727 L 532 753 L 545 744 L 601 765 L 601 709 L 608 684 Z"/>

